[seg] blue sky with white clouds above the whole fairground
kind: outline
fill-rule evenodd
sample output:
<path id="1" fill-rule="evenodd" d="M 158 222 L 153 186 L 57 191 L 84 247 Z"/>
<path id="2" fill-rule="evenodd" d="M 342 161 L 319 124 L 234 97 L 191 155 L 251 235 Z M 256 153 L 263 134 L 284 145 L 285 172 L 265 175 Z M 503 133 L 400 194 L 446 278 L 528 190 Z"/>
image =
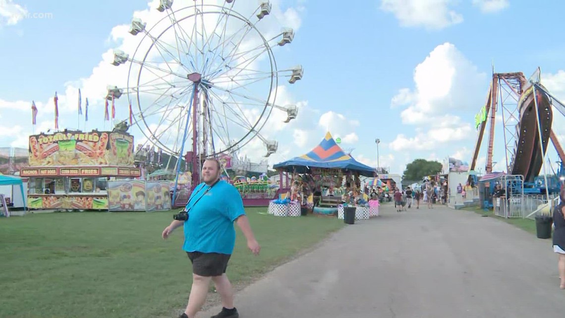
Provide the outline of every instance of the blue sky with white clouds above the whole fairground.
<path id="1" fill-rule="evenodd" d="M 156 10 L 158 3 L 0 0 L 0 146 L 27 147 L 27 136 L 33 131 L 32 100 L 38 108 L 34 131 L 53 130 L 55 92 L 59 127 L 110 128 L 103 121 L 106 87 L 131 85 L 129 66 L 110 64 L 113 50 L 134 55 L 141 37 L 128 33 L 132 18 L 142 18 L 150 29 L 166 16 Z M 172 9 L 192 3 L 175 0 Z M 221 6 L 223 1 L 206 3 Z M 327 130 L 341 137 L 342 148 L 371 166 L 377 165 L 375 139 L 379 138 L 380 165 L 394 173 L 402 173 L 416 158 L 441 161 L 450 156 L 470 161 L 477 139 L 474 117 L 485 103 L 493 63 L 496 72 L 526 76 L 541 67 L 542 84 L 565 100 L 565 40 L 562 29 L 555 27 L 565 2 L 549 0 L 543 6 L 512 0 L 328 3 L 271 1 L 271 15 L 261 22 L 260 32 L 267 35 L 283 27 L 294 29 L 291 44 L 273 46 L 279 70 L 304 68 L 302 80 L 289 84 L 281 75 L 276 89 L 275 103 L 297 105 L 297 119 L 282 123 L 286 114 L 275 109 L 260 131 L 263 139 L 279 142 L 277 153 L 268 158 L 271 165 L 309 151 Z M 233 10 L 252 16 L 258 4 L 236 0 Z M 260 58 L 253 65 L 263 66 Z M 83 111 L 84 98 L 89 98 L 88 123 L 77 115 L 79 88 Z M 256 89 L 251 92 L 254 96 L 268 96 L 268 88 L 250 88 Z M 563 118 L 554 113 L 554 131 L 564 142 Z M 245 110 L 240 115 L 226 116 L 247 118 L 257 113 Z M 494 170 L 505 170 L 499 117 Z M 127 99 L 120 98 L 116 121 L 127 118 Z M 237 128 L 233 129 L 237 135 Z M 144 139 L 140 128 L 132 132 L 137 140 Z M 485 144 L 486 138 L 477 166 L 483 170 Z M 263 141 L 257 138 L 241 149 L 241 154 L 255 160 L 264 153 Z M 557 161 L 553 148 L 548 155 Z"/>

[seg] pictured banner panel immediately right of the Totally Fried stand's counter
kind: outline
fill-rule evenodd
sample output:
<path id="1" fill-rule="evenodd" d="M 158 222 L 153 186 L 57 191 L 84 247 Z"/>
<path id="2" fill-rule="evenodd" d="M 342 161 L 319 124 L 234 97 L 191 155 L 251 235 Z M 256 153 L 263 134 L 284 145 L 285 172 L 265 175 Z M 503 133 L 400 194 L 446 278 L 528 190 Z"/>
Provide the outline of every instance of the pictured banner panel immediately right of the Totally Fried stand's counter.
<path id="1" fill-rule="evenodd" d="M 108 210 L 145 211 L 145 181 L 108 182 Z"/>

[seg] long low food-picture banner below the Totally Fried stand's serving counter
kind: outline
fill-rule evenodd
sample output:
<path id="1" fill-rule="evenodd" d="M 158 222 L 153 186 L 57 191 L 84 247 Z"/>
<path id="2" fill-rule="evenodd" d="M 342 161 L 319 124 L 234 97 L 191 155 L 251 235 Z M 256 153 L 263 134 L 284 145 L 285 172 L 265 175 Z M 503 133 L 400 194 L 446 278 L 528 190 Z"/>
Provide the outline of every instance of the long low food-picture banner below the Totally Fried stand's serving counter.
<path id="1" fill-rule="evenodd" d="M 108 198 L 105 196 L 28 196 L 31 209 L 76 209 L 107 210 Z"/>

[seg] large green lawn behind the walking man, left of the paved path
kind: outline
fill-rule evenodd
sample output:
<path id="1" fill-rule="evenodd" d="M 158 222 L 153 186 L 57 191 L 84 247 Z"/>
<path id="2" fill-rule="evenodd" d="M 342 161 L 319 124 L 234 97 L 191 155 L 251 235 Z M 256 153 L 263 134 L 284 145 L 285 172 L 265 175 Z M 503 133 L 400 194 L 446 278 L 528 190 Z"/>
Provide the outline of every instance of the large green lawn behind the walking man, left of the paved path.
<path id="1" fill-rule="evenodd" d="M 259 256 L 237 229 L 228 276 L 249 283 L 314 246 L 344 222 L 281 218 L 247 208 Z M 0 219 L 0 317 L 172 317 L 184 308 L 191 266 L 182 228 L 160 235 L 173 211 L 44 213 Z"/>

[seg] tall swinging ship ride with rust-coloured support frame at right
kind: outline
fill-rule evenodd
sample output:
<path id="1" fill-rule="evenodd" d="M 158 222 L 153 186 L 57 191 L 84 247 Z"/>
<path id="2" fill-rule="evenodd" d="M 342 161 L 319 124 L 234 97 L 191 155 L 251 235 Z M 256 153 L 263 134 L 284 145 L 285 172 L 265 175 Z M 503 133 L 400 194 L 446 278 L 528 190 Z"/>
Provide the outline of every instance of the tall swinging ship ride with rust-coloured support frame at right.
<path id="1" fill-rule="evenodd" d="M 479 134 L 469 170 L 475 170 L 486 123 L 489 122 L 485 173 L 493 173 L 494 128 L 499 110 L 503 122 L 506 171 L 509 175 L 520 176 L 520 180 L 516 179 L 516 182 L 521 184 L 516 188 L 523 188 L 524 184 L 531 184 L 533 187 L 549 184 L 547 174 L 540 176 L 540 170 L 550 140 L 560 161 L 563 162 L 565 158 L 552 128 L 554 109 L 565 116 L 565 106 L 540 83 L 540 68 L 529 79 L 522 72 L 494 73 L 486 104 L 475 117 Z M 545 170 L 545 165 L 543 166 Z M 563 169 L 559 169 L 559 173 L 563 173 Z M 540 183 L 540 178 L 544 182 Z"/>

